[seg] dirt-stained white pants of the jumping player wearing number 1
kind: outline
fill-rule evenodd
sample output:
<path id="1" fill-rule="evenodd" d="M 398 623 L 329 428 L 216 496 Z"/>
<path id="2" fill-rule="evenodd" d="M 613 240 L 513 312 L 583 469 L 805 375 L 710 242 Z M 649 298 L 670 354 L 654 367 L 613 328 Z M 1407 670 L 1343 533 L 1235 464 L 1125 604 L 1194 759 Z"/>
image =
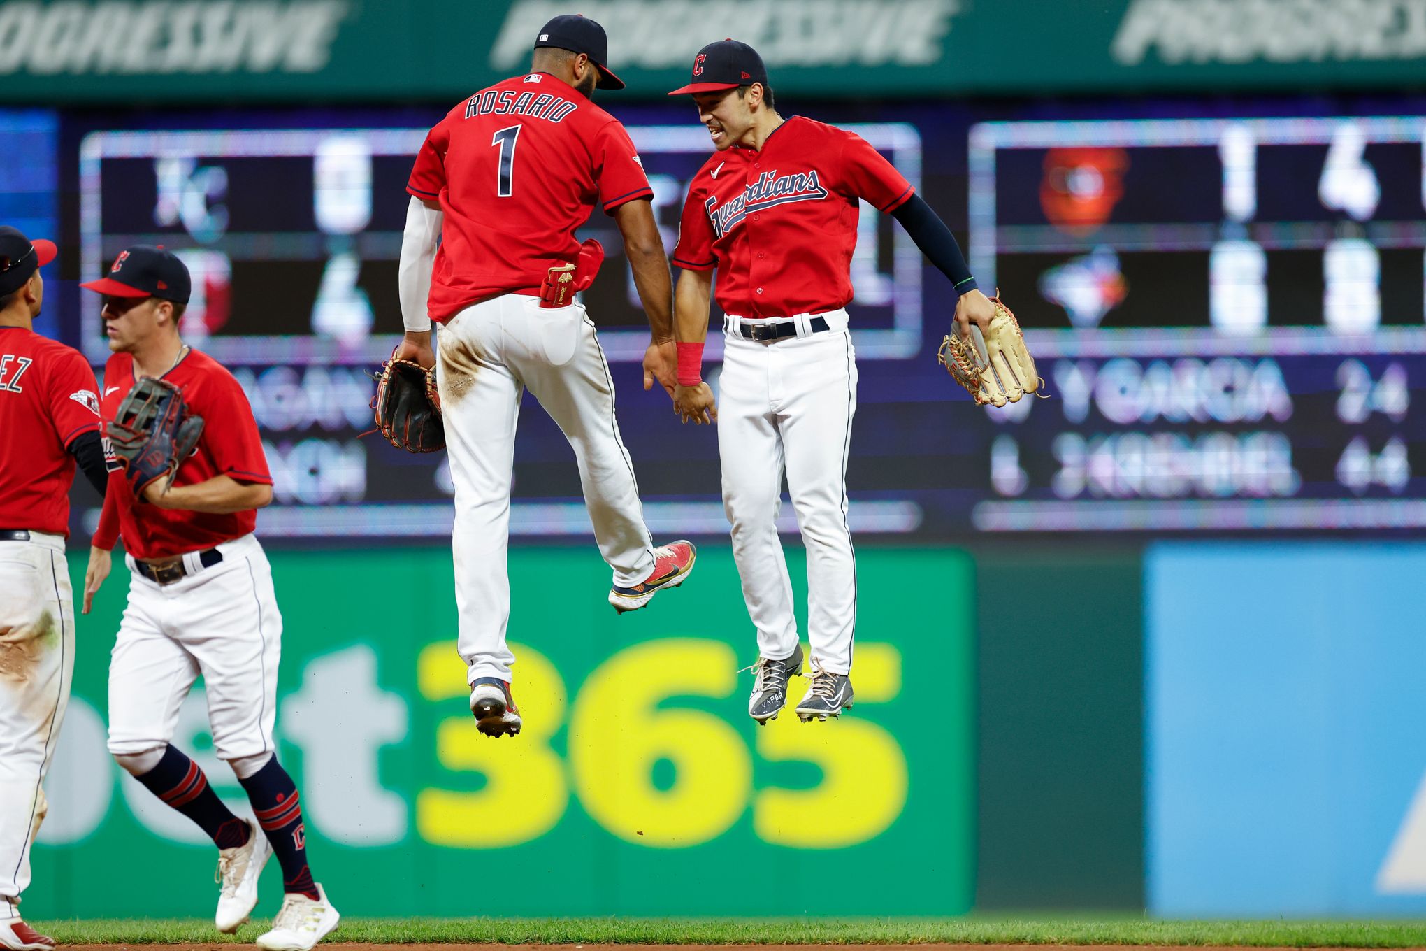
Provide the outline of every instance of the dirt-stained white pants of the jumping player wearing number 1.
<path id="1" fill-rule="evenodd" d="M 575 451 L 595 540 L 616 586 L 649 577 L 653 542 L 615 419 L 609 364 L 582 304 L 542 308 L 538 298 L 505 294 L 468 307 L 441 328 L 436 381 L 455 485 L 458 647 L 469 682 L 509 682 L 506 553 L 525 388 Z"/>

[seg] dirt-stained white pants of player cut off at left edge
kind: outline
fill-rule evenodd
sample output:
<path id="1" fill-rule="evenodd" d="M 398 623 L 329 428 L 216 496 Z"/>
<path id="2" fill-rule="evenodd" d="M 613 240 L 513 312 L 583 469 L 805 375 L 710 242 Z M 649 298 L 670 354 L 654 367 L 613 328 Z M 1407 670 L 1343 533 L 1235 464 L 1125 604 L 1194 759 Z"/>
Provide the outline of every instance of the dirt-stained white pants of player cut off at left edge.
<path id="1" fill-rule="evenodd" d="M 20 914 L 74 674 L 74 600 L 64 538 L 0 542 L 0 918 Z"/>

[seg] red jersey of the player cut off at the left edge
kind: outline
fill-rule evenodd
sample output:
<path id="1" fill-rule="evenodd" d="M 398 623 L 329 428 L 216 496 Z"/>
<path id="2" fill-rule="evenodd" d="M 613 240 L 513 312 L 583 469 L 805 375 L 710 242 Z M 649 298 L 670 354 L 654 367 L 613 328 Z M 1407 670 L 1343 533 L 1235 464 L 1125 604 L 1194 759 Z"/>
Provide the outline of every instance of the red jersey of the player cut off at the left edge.
<path id="1" fill-rule="evenodd" d="M 0 529 L 70 533 L 70 443 L 98 429 L 88 361 L 24 327 L 0 327 Z"/>

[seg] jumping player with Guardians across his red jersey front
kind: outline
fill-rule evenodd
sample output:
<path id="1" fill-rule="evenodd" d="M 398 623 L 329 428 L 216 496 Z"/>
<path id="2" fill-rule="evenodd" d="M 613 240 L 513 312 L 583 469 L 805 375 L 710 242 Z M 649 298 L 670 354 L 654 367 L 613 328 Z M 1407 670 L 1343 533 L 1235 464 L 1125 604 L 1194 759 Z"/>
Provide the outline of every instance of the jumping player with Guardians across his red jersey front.
<path id="1" fill-rule="evenodd" d="M 673 262 L 676 409 L 717 419 L 723 506 L 743 599 L 757 627 L 749 713 L 774 719 L 787 680 L 803 666 L 791 585 L 776 518 L 783 472 L 807 546 L 811 674 L 803 720 L 851 706 L 857 610 L 847 529 L 847 452 L 857 408 L 857 366 L 847 334 L 851 254 L 860 201 L 891 214 L 960 294 L 955 321 L 984 327 L 994 308 L 975 289 L 955 238 L 901 174 L 866 140 L 773 108 L 761 57 L 744 43 L 703 47 L 692 94 L 714 154 L 689 185 Z M 709 292 L 727 315 L 719 389 L 700 382 Z"/>

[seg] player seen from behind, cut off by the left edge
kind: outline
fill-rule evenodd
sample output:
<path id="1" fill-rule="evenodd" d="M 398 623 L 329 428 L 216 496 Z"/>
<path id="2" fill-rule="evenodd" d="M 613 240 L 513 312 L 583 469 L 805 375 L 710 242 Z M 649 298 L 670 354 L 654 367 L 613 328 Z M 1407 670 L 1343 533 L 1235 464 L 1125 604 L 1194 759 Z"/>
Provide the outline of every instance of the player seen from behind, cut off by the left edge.
<path id="1" fill-rule="evenodd" d="M 84 356 L 40 336 L 54 244 L 0 227 L 0 947 L 51 948 L 20 918 L 74 670 L 64 560 L 74 463 L 104 493 L 98 388 Z"/>

